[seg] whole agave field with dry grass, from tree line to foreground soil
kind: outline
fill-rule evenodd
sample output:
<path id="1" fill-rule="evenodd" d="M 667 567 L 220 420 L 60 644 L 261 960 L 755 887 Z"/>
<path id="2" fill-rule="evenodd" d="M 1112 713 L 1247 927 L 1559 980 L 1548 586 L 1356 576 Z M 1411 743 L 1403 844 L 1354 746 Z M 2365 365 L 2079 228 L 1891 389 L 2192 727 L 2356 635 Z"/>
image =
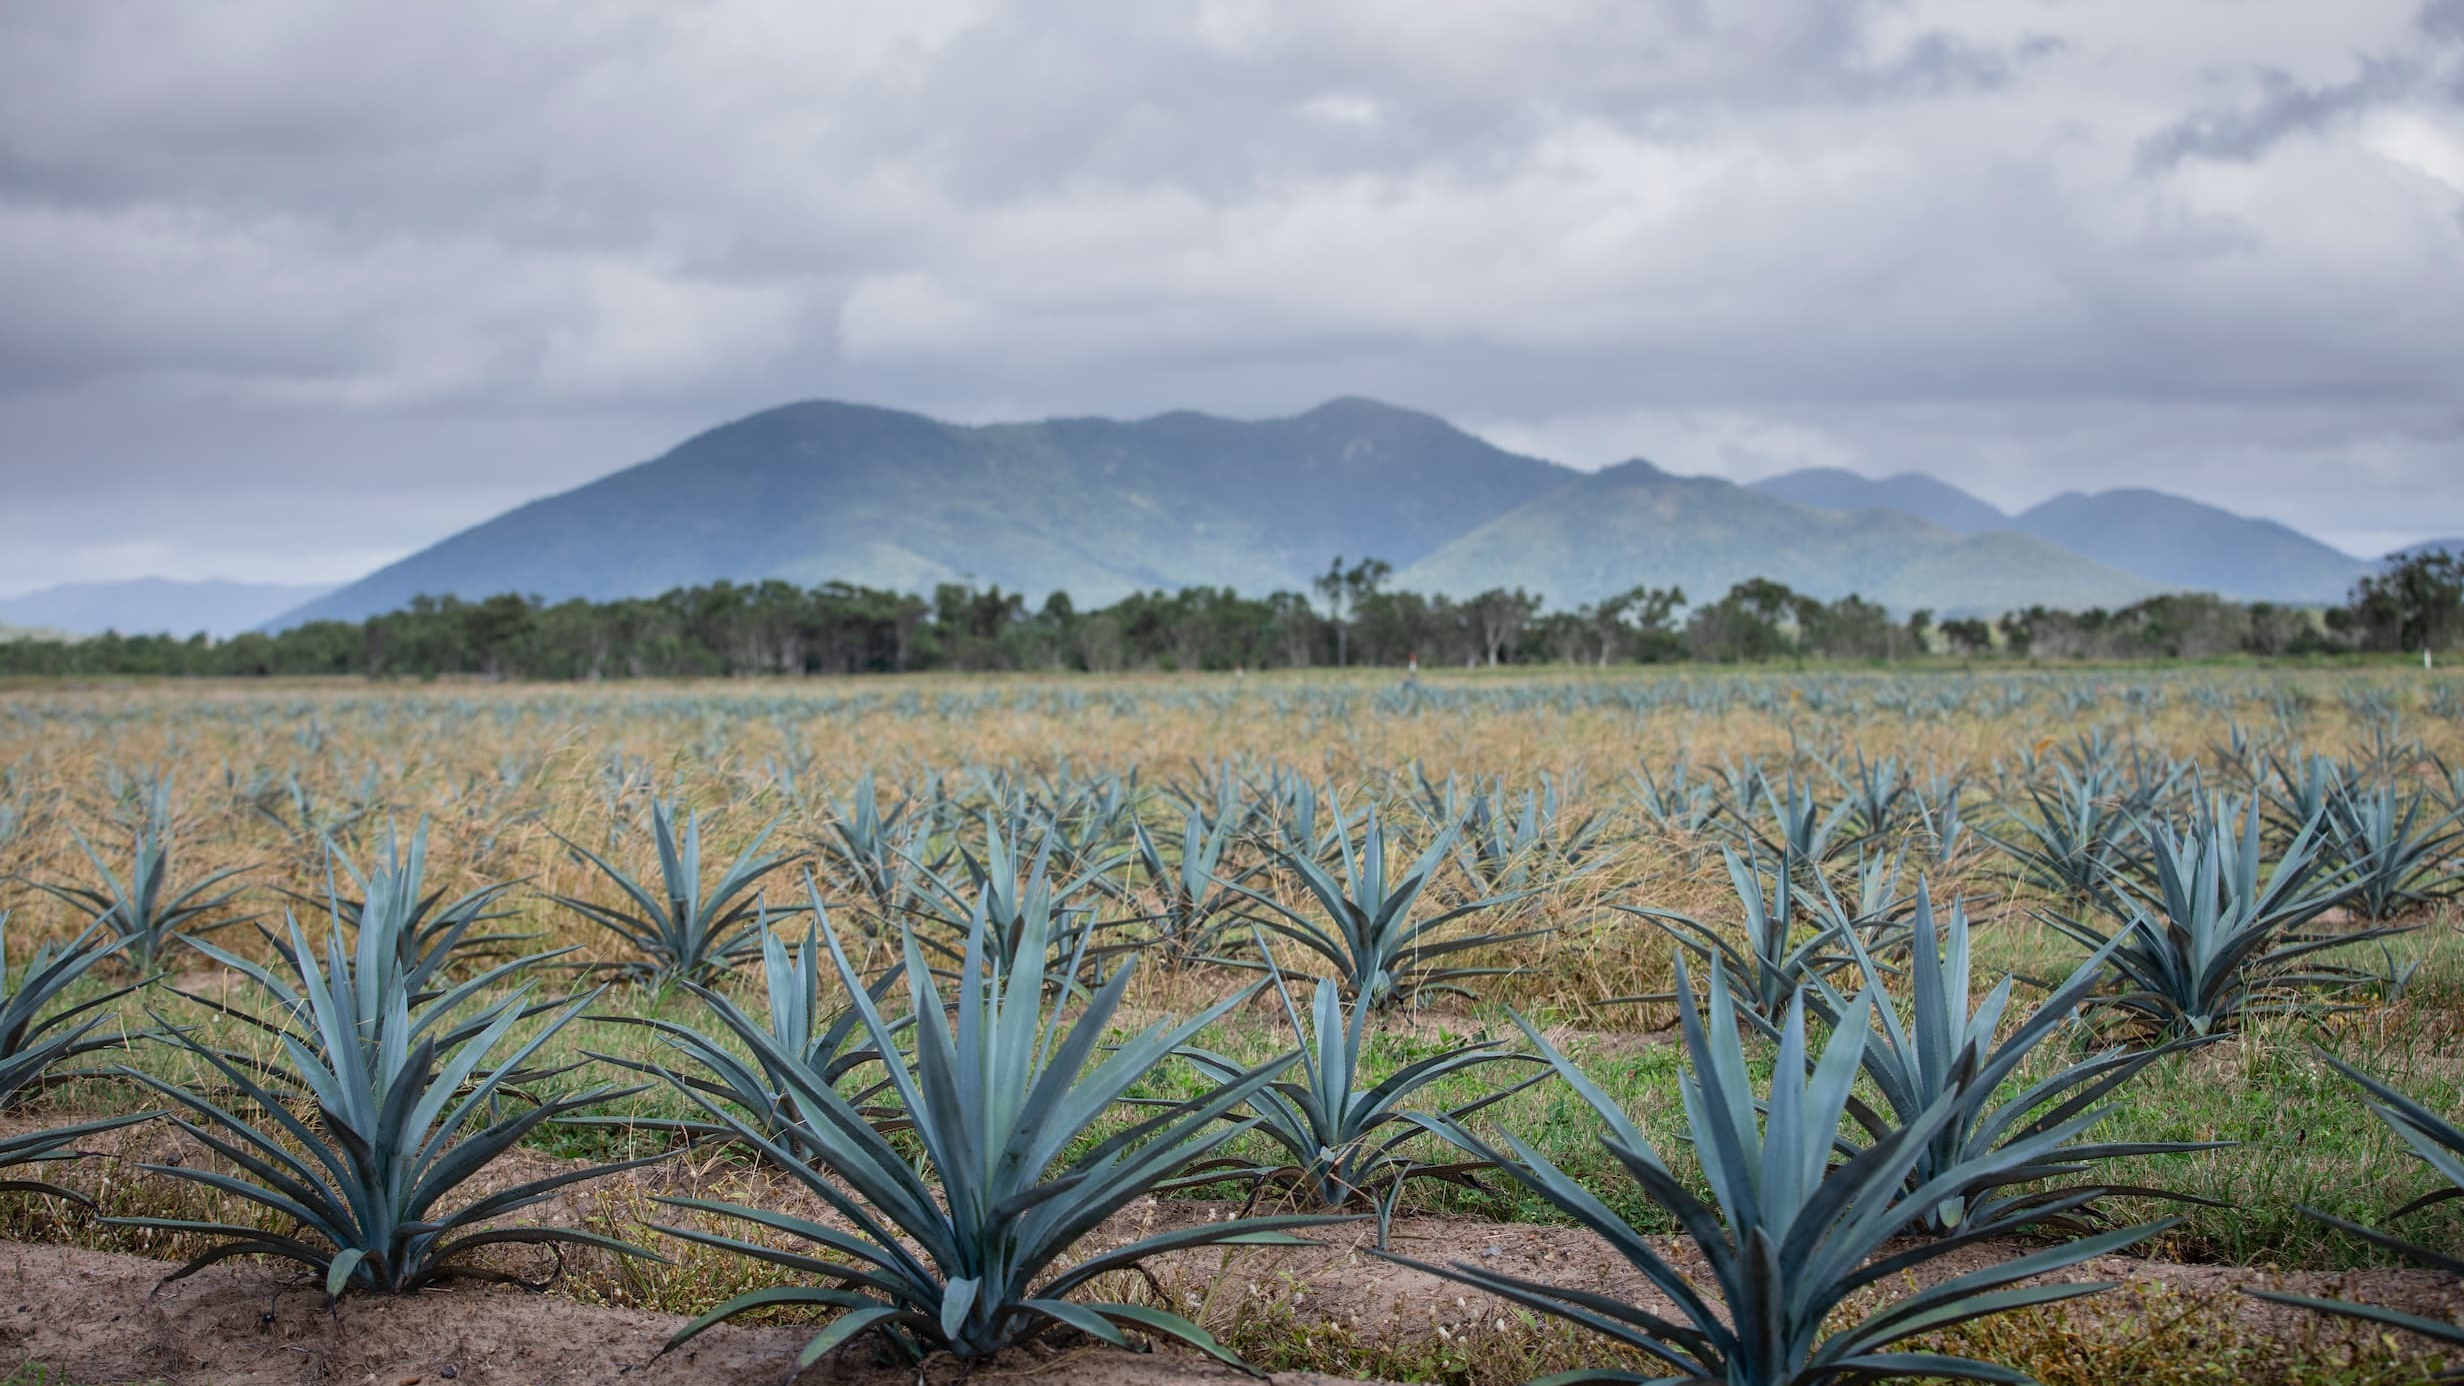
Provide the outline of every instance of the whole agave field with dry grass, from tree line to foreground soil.
<path id="1" fill-rule="evenodd" d="M 2464 1371 L 2464 681 L 0 691 L 12 1381 Z"/>

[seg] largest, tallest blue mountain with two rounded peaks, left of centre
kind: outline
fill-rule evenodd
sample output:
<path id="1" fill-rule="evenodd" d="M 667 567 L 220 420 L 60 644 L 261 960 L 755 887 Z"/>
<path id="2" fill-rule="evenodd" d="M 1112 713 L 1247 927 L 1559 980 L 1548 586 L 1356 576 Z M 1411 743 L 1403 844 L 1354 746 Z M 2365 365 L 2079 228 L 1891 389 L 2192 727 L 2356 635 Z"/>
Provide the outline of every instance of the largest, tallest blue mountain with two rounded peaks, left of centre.
<path id="1" fill-rule="evenodd" d="M 1335 400 L 1291 419 L 963 427 L 803 402 L 532 501 L 283 617 L 416 594 L 631 597 L 779 577 L 978 582 L 1079 604 L 1141 587 L 1306 587 L 1333 555 L 1397 567 L 1577 476 L 1444 419 Z"/>

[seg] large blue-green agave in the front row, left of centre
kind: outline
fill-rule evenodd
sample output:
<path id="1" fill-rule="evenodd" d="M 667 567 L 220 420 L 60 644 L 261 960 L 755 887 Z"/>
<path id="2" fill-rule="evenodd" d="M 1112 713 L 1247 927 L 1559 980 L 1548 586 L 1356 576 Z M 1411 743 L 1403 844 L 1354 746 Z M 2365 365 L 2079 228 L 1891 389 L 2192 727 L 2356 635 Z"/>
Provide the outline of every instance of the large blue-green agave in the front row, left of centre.
<path id="1" fill-rule="evenodd" d="M 828 920 L 821 922 L 821 937 L 862 1016 L 865 1038 L 877 1053 L 894 1056 L 897 1033 L 865 994 Z M 914 1122 L 912 1137 L 922 1159 L 885 1139 L 853 1100 L 821 1073 L 803 1068 L 798 1056 L 779 1048 L 761 1028 L 739 1028 L 737 1038 L 754 1048 L 764 1068 L 786 1080 L 786 1107 L 793 1115 L 788 1142 L 710 1102 L 700 1090 L 683 1088 L 712 1120 L 732 1127 L 737 1139 L 764 1152 L 828 1204 L 845 1226 L 739 1204 L 660 1199 L 675 1208 L 803 1238 L 830 1253 L 823 1258 L 700 1228 L 660 1226 L 668 1236 L 737 1250 L 821 1280 L 737 1295 L 685 1324 L 668 1347 L 737 1314 L 776 1305 L 823 1305 L 843 1312 L 806 1344 L 798 1359 L 803 1366 L 862 1332 L 885 1334 L 912 1359 L 949 1351 L 961 1361 L 978 1361 L 1055 1327 L 1111 1344 L 1129 1342 L 1124 1329 L 1161 1334 L 1232 1361 L 1222 1344 L 1180 1314 L 1146 1305 L 1077 1302 L 1069 1295 L 1165 1250 L 1222 1243 L 1289 1245 L 1291 1228 L 1326 1218 L 1205 1223 L 1087 1258 L 1060 1273 L 1055 1263 L 1104 1218 L 1247 1130 L 1247 1122 L 1222 1125 L 1217 1117 L 1257 1097 L 1294 1056 L 1215 1083 L 1129 1130 L 1089 1139 L 1096 1122 L 1131 1088 L 1249 994 L 1227 996 L 1183 1023 L 1148 1026 L 1099 1058 L 1133 964 L 1119 969 L 1092 996 L 1087 1011 L 1064 1026 L 1057 1009 L 1045 1014 L 1045 996 L 1074 989 L 1067 974 L 1047 977 L 1045 942 L 1025 940 L 1013 954 L 1015 964 L 1003 967 L 978 917 L 968 930 L 956 996 L 944 996 L 909 935 L 907 999 L 909 1014 L 919 1016 L 912 1026 L 914 1060 L 887 1063 L 885 1073 L 897 1105 Z M 1074 969 L 1077 959 L 1069 967 Z"/>

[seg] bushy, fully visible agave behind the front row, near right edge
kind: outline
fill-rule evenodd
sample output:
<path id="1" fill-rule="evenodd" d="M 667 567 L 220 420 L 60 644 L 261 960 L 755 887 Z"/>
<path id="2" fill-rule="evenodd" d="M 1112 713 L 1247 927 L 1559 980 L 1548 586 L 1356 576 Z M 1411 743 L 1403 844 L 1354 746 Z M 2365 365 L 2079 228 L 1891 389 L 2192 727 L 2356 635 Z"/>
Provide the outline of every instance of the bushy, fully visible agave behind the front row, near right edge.
<path id="1" fill-rule="evenodd" d="M 2304 932 L 2343 903 L 2351 883 L 2316 871 L 2319 821 L 2306 824 L 2277 866 L 2259 878 L 2259 809 L 2247 804 L 2240 834 L 2232 811 L 2208 806 L 2190 829 L 2149 831 L 2154 890 L 2112 878 L 2107 900 L 2124 925 L 2104 932 L 2085 917 L 2050 917 L 2089 952 L 2112 957 L 2129 991 L 2109 1004 L 2168 1036 L 2232 1028 L 2247 1014 L 2311 1004 L 2314 991 L 2383 982 L 2375 972 L 2319 962 L 2314 954 L 2400 935 L 2400 927 Z"/>

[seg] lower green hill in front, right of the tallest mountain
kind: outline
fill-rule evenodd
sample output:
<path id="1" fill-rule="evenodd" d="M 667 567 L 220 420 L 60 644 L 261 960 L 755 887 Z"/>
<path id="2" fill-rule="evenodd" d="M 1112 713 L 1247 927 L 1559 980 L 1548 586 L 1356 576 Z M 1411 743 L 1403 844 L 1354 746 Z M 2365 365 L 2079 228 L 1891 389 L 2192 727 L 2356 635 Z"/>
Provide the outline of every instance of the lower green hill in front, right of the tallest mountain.
<path id="1" fill-rule="evenodd" d="M 1747 577 L 1892 609 L 2119 607 L 2154 582 L 2016 533 L 1959 535 L 1897 511 L 1821 511 L 1715 476 L 1626 461 L 1574 478 L 1395 575 L 1471 594 L 1528 587 L 1572 607 L 1648 582 L 1710 602 Z"/>

